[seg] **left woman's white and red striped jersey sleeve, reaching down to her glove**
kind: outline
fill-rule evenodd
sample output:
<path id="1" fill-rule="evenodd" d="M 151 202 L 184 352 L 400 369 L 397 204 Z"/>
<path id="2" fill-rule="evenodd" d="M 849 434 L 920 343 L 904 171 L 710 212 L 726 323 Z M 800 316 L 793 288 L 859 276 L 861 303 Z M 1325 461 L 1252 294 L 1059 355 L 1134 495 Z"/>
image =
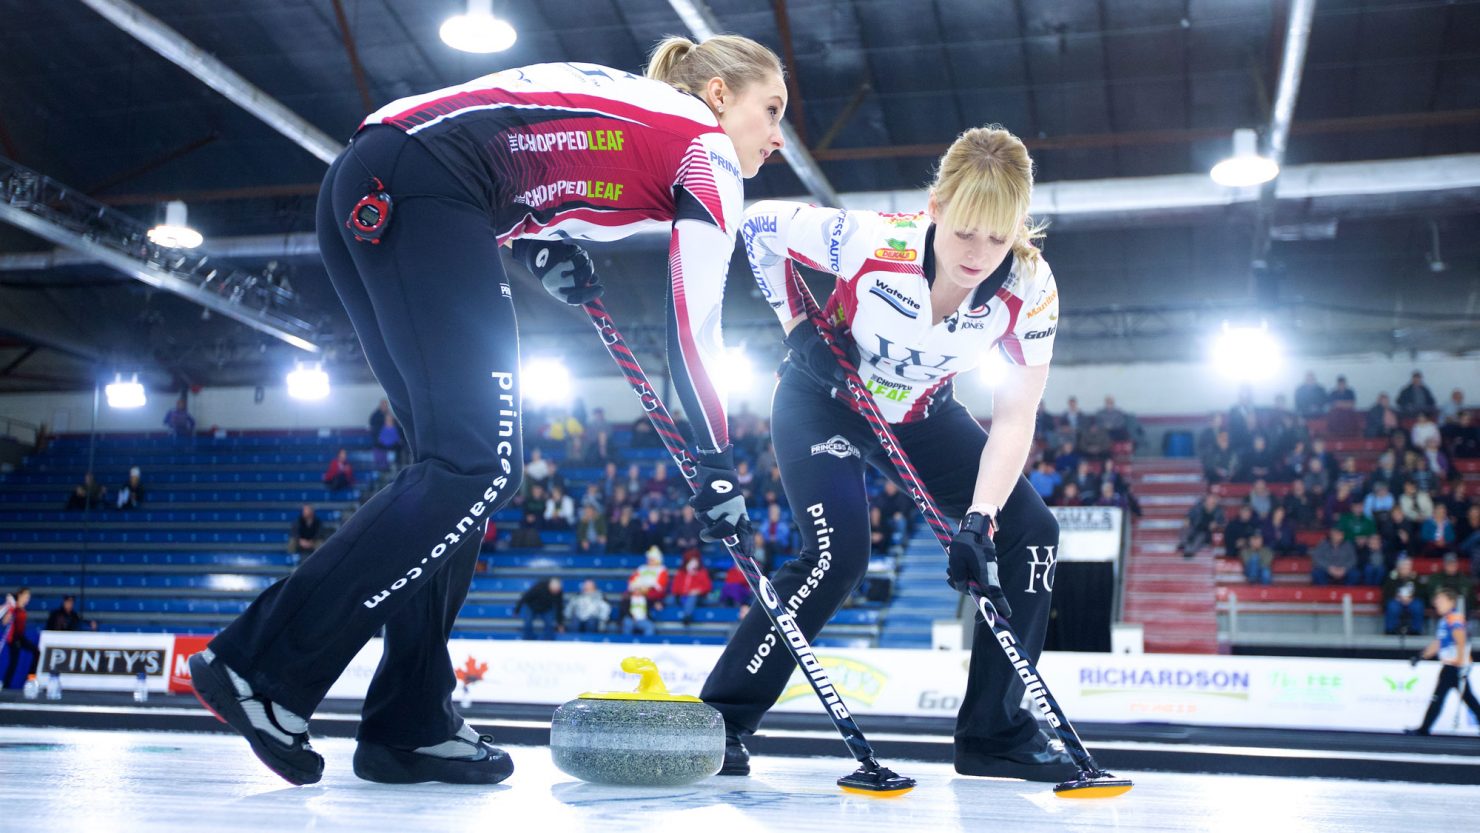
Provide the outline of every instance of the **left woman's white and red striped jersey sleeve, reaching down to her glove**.
<path id="1" fill-rule="evenodd" d="M 725 349 L 719 311 L 743 206 L 740 166 L 728 138 L 710 133 L 694 139 L 675 198 L 667 252 L 667 368 L 699 450 L 718 451 L 730 445 L 719 377 Z"/>

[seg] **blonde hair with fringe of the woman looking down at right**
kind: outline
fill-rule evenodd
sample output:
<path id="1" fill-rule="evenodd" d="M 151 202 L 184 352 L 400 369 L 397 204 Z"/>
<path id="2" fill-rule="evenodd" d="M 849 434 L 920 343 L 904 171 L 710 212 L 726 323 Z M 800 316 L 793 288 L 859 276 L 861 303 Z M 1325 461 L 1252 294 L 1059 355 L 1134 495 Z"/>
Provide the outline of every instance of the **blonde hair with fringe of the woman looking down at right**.
<path id="1" fill-rule="evenodd" d="M 929 186 L 944 225 L 981 228 L 1012 240 L 1012 253 L 1037 257 L 1035 240 L 1046 223 L 1027 216 L 1033 200 L 1033 158 L 1023 139 L 1000 124 L 972 127 L 950 144 Z"/>

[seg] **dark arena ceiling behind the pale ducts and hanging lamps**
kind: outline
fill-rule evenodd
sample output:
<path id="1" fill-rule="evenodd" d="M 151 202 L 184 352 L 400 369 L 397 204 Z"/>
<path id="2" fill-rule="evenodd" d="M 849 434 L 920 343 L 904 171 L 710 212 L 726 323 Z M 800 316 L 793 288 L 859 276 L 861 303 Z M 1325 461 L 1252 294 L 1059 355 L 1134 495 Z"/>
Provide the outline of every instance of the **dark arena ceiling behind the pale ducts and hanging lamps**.
<path id="1" fill-rule="evenodd" d="M 472 56 L 437 37 L 460 0 L 138 4 L 343 139 L 398 96 L 542 61 L 638 68 L 657 38 L 687 34 L 667 0 L 500 1 L 518 44 Z M 1040 183 L 1203 173 L 1233 129 L 1268 129 L 1289 12 L 1283 0 L 710 6 L 725 30 L 787 56 L 789 118 L 845 197 L 922 186 L 958 132 L 993 121 L 1029 141 Z M 184 198 L 207 250 L 255 241 L 232 262 L 287 281 L 336 377 L 367 377 L 317 257 L 263 254 L 312 231 L 323 161 L 81 0 L 0 0 L 0 154 L 141 220 Z M 1310 31 L 1286 166 L 1480 152 L 1480 0 L 1320 0 Z M 1305 354 L 1480 349 L 1480 189 L 1406 192 L 1381 170 L 1370 194 L 1280 200 L 1267 225 L 1283 269 L 1265 281 L 1251 280 L 1252 203 L 1049 217 L 1058 361 L 1199 355 L 1203 333 L 1252 299 Z M 805 192 L 786 164 L 747 185 L 752 198 Z M 90 386 L 112 368 L 255 385 L 302 355 L 99 263 L 38 263 L 50 249 L 0 226 L 0 391 Z M 598 252 L 608 306 L 648 355 L 665 260 L 653 240 Z M 778 355 L 741 260 L 731 340 Z M 517 291 L 527 352 L 583 326 L 536 287 Z"/>

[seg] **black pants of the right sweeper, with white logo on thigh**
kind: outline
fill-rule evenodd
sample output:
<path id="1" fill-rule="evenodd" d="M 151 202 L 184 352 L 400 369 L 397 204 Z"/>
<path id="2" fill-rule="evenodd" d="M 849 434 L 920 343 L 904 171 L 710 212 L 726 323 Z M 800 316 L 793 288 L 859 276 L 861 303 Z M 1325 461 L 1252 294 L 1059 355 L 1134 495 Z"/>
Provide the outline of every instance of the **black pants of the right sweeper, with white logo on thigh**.
<path id="1" fill-rule="evenodd" d="M 781 604 L 795 608 L 807 638 L 814 639 L 869 567 L 864 463 L 891 479 L 898 481 L 898 475 L 869 423 L 790 365 L 776 388 L 771 425 L 778 426 L 773 431 L 776 459 L 802 537 L 799 558 L 777 570 L 773 584 Z M 981 425 L 952 399 L 921 422 L 892 428 L 941 513 L 961 518 L 971 505 L 981 448 L 987 442 Z M 998 562 L 1002 589 L 1012 605 L 1012 627 L 1037 661 L 1048 630 L 1058 521 L 1027 479 L 1018 478 L 1002 506 L 998 527 Z M 944 581 L 946 555 L 940 558 L 940 580 Z M 795 667 L 765 611 L 755 605 L 725 647 L 700 697 L 728 724 L 753 732 Z M 978 621 L 966 694 L 956 716 L 958 752 L 990 755 L 1027 743 L 1037 722 L 1021 701 L 1023 682 L 992 629 Z"/>

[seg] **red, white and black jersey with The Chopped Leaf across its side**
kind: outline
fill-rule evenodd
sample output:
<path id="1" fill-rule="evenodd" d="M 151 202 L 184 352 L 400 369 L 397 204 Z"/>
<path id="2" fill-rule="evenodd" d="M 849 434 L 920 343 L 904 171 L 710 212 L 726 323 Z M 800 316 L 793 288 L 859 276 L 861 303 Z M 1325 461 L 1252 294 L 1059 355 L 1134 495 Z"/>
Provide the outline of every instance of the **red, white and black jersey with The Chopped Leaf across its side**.
<path id="1" fill-rule="evenodd" d="M 700 447 L 728 444 L 712 370 L 744 188 L 703 101 L 595 64 L 536 64 L 404 98 L 370 124 L 414 136 L 482 192 L 499 243 L 670 228 L 669 368 Z"/>

